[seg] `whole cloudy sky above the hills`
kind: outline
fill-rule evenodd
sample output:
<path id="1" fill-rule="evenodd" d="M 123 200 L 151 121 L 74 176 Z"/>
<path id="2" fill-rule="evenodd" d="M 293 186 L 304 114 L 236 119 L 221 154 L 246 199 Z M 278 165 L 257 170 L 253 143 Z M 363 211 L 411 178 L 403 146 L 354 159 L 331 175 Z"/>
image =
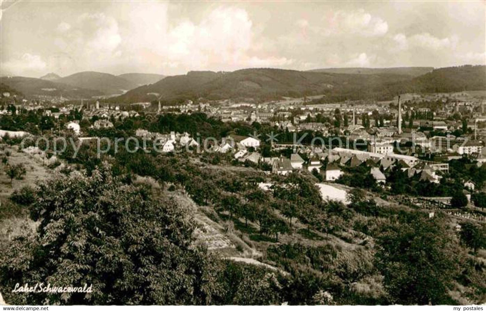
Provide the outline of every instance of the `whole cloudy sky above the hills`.
<path id="1" fill-rule="evenodd" d="M 1 75 L 486 62 L 485 1 L 0 2 Z"/>

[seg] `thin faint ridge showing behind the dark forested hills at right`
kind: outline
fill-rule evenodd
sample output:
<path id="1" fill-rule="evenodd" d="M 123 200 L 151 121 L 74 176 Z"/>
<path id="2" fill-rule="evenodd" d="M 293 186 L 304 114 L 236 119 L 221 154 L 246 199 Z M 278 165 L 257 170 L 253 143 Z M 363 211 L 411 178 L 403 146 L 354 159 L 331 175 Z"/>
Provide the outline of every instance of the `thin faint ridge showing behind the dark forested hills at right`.
<path id="1" fill-rule="evenodd" d="M 393 68 L 322 68 L 312 69 L 311 72 L 346 73 L 346 74 L 396 74 L 411 77 L 421 76 L 434 70 L 434 67 L 393 67 Z"/>

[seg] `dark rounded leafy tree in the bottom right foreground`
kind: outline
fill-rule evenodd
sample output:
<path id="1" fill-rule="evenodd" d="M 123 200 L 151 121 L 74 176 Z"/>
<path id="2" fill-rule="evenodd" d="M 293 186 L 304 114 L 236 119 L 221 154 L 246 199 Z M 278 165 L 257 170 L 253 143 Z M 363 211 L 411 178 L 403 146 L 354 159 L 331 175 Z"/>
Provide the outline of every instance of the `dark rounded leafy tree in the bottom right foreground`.
<path id="1" fill-rule="evenodd" d="M 377 238 L 376 266 L 397 304 L 451 304 L 448 290 L 464 252 L 440 217 L 417 214 Z"/>

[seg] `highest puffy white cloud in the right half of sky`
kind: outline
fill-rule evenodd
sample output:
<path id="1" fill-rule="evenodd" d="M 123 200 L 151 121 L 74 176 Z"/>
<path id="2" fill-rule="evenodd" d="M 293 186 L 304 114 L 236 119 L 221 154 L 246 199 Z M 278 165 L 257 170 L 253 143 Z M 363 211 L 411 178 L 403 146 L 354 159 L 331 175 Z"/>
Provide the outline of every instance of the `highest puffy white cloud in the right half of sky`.
<path id="1" fill-rule="evenodd" d="M 363 9 L 357 11 L 336 11 L 328 19 L 330 34 L 361 34 L 383 36 L 388 32 L 388 23 L 381 17 L 372 16 Z"/>

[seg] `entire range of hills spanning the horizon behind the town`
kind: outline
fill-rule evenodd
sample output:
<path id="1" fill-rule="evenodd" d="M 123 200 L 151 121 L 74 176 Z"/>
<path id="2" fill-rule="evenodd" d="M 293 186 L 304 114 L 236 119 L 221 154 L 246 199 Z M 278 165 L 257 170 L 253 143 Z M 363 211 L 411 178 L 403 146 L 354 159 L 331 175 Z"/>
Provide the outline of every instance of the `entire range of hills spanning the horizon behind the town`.
<path id="1" fill-rule="evenodd" d="M 328 69 L 297 71 L 254 68 L 233 72 L 190 71 L 186 75 L 169 77 L 140 73 L 115 76 L 101 72 L 79 72 L 55 80 L 49 80 L 57 76 L 52 73 L 43 76 L 43 79 L 2 77 L 0 82 L 26 96 L 90 98 L 122 94 L 128 90 L 125 94 L 111 98 L 112 101 L 120 103 L 153 101 L 156 94 L 167 103 L 197 98 L 255 98 L 263 101 L 312 95 L 325 95 L 324 102 L 333 102 L 347 99 L 387 100 L 398 94 L 411 92 L 486 90 L 484 65 L 438 68 L 413 76 L 417 74 L 416 71 L 429 69 L 430 67 L 334 68 L 332 70 L 351 72 L 335 73 L 321 71 Z M 146 85 L 140 86 L 141 83 Z"/>

